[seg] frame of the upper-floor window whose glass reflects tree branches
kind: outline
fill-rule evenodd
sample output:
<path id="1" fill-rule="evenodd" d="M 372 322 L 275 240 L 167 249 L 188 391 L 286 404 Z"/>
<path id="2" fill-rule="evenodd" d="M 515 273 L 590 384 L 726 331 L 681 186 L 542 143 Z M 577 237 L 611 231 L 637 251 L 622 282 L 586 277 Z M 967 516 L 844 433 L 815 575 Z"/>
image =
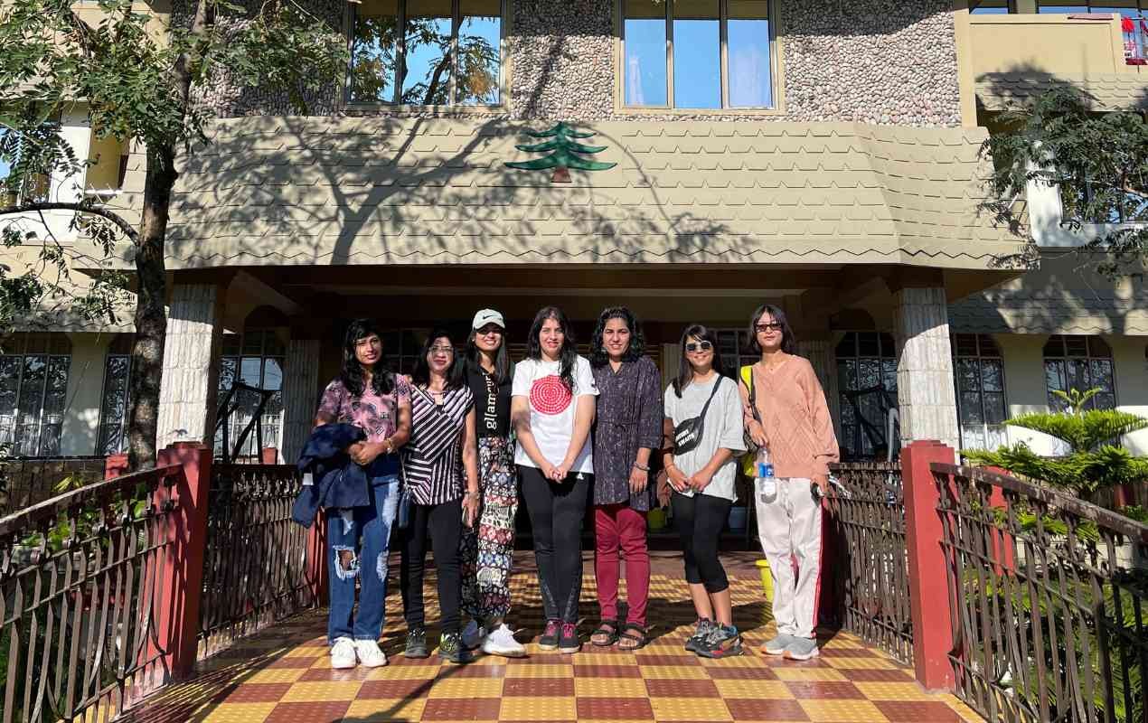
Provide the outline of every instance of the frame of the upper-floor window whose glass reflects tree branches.
<path id="1" fill-rule="evenodd" d="M 409 2 L 417 2 L 418 0 L 396 0 L 398 5 L 397 22 L 400 28 L 406 24 L 406 6 Z M 347 8 L 343 13 L 343 34 L 347 38 L 347 50 L 352 53 L 355 49 L 355 18 L 358 15 L 358 8 L 362 7 L 362 2 L 347 2 Z M 398 80 L 398 75 L 395 75 L 395 94 L 394 101 L 355 101 L 351 100 L 351 72 L 354 71 L 354 57 L 347 61 L 347 72 L 343 77 L 343 106 L 348 108 L 356 109 L 379 109 L 379 110 L 394 110 L 394 111 L 427 111 L 427 110 L 449 110 L 451 114 L 458 112 L 490 112 L 505 111 L 510 108 L 509 103 L 509 68 L 510 68 L 510 55 L 507 48 L 507 38 L 510 33 L 510 26 L 512 22 L 512 8 L 513 2 L 511 0 L 498 0 L 499 15 L 499 33 L 498 33 L 498 102 L 497 103 L 467 103 L 459 104 L 456 102 L 448 102 L 442 106 L 435 104 L 424 104 L 424 103 L 403 103 L 401 101 L 403 84 Z M 456 98 L 456 86 L 458 83 L 458 30 L 461 25 L 461 11 L 463 11 L 463 0 L 451 0 L 451 53 L 453 55 L 451 60 L 450 69 L 450 84 L 448 86 L 448 99 L 453 100 Z M 402 32 L 402 47 L 397 56 L 405 56 L 406 53 L 406 33 Z"/>

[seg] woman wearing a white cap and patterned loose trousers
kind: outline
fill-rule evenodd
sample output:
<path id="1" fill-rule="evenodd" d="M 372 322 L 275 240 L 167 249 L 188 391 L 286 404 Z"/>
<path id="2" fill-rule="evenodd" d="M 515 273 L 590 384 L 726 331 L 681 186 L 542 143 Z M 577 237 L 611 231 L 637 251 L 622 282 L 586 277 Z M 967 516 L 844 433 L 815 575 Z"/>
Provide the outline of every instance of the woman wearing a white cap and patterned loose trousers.
<path id="1" fill-rule="evenodd" d="M 506 625 L 510 574 L 514 554 L 518 484 L 510 442 L 510 399 L 514 365 L 506 351 L 506 322 L 494 309 L 474 314 L 466 344 L 466 382 L 478 412 L 479 488 L 482 512 L 464 529 L 463 609 L 472 621 L 463 632 L 467 646 L 488 655 L 518 658 L 526 648 Z"/>

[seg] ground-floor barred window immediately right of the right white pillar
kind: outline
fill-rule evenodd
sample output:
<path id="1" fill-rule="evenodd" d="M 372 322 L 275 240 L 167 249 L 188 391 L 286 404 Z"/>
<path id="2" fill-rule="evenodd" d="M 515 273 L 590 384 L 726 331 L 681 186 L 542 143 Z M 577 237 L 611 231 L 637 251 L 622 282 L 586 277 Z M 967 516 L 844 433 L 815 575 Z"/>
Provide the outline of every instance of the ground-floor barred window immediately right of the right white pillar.
<path id="1" fill-rule="evenodd" d="M 988 334 L 953 335 L 953 376 L 962 449 L 995 450 L 1004 430 L 1004 362 Z"/>

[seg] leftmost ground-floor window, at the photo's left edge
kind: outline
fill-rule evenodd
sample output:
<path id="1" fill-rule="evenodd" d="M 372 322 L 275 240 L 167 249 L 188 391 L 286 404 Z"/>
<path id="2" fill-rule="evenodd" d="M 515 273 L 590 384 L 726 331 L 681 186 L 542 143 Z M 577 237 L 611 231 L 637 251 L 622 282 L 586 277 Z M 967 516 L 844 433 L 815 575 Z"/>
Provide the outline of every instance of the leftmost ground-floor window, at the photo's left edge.
<path id="1" fill-rule="evenodd" d="M 23 334 L 0 342 L 0 446 L 14 457 L 60 454 L 71 341 Z"/>

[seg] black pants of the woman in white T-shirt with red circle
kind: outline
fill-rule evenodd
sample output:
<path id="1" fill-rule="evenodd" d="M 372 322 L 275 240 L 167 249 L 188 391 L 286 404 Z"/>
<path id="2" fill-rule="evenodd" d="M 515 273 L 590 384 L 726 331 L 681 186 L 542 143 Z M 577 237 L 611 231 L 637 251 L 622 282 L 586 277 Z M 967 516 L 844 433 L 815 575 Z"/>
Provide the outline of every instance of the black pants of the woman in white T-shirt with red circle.
<path id="1" fill-rule="evenodd" d="M 582 594 L 582 518 L 594 483 L 592 474 L 571 473 L 561 483 L 535 467 L 519 466 L 522 499 L 530 515 L 534 559 L 542 584 L 546 620 L 577 622 Z"/>

